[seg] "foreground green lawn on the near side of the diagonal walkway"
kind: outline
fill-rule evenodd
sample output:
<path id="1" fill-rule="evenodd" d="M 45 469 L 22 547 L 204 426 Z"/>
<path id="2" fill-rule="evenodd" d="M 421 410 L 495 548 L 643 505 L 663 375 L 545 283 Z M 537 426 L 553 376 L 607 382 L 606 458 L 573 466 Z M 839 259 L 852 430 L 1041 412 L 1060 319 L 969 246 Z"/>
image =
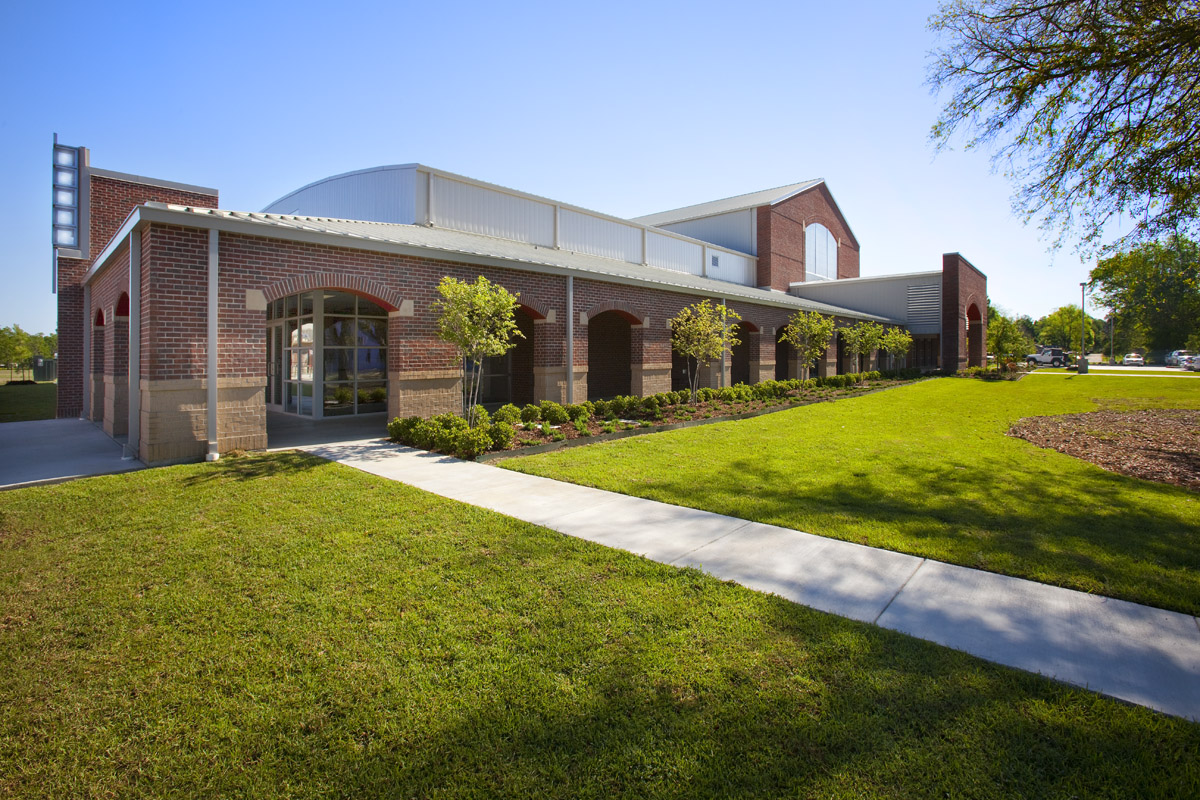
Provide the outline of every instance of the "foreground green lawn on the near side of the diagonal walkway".
<path id="1" fill-rule="evenodd" d="M 305 456 L 0 493 L 0 796 L 1198 793 L 1198 724 Z"/>

